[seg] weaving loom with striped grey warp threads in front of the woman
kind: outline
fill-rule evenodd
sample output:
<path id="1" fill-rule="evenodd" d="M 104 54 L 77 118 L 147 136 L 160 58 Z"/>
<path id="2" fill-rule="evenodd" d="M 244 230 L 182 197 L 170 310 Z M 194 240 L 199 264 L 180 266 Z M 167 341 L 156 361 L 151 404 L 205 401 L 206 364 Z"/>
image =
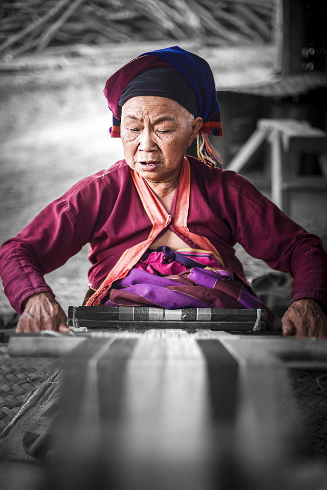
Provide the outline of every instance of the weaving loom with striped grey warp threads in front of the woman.
<path id="1" fill-rule="evenodd" d="M 264 313 L 70 307 L 74 334 L 11 335 L 12 356 L 63 360 L 37 490 L 305 490 L 309 455 L 326 483 L 327 340 L 283 338 Z"/>

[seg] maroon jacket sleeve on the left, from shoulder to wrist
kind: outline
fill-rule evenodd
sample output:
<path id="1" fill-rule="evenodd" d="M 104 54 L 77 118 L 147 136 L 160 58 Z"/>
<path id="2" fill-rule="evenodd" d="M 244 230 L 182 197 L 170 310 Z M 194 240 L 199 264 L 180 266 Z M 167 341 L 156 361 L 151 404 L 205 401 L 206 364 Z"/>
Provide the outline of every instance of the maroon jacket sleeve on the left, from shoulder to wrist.
<path id="1" fill-rule="evenodd" d="M 121 167 L 125 169 L 120 171 Z M 44 274 L 64 265 L 87 243 L 97 244 L 108 235 L 106 230 L 102 232 L 103 227 L 118 193 L 125 192 L 129 176 L 129 167 L 121 160 L 108 170 L 85 177 L 2 245 L 0 275 L 17 312 L 22 312 L 23 301 L 32 294 L 52 293 Z"/>

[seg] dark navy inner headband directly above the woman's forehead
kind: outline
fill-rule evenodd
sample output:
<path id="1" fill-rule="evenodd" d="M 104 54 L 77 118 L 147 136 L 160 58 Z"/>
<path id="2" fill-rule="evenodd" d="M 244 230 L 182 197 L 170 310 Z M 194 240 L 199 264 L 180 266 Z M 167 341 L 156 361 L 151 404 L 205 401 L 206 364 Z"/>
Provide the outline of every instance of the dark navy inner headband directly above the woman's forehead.
<path id="1" fill-rule="evenodd" d="M 196 117 L 196 95 L 183 75 L 175 68 L 153 68 L 138 74 L 122 93 L 118 105 L 122 107 L 127 100 L 138 96 L 173 99 Z"/>

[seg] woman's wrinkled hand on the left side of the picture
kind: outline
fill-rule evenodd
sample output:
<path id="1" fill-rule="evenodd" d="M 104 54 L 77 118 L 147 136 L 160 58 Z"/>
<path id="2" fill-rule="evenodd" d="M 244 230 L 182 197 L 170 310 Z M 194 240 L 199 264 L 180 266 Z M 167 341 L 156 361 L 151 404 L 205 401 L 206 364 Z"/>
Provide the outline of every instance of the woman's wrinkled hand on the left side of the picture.
<path id="1" fill-rule="evenodd" d="M 57 330 L 69 332 L 64 310 L 51 293 L 29 296 L 24 302 L 24 311 L 18 321 L 16 332 L 40 332 Z"/>

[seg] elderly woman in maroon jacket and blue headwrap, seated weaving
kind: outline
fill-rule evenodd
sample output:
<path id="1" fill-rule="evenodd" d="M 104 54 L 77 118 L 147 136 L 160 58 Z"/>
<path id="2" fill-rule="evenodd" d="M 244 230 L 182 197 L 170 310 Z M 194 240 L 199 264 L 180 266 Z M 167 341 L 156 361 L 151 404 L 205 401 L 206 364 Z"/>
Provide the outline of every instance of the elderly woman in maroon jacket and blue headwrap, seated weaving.
<path id="1" fill-rule="evenodd" d="M 86 243 L 87 305 L 265 307 L 235 256 L 239 242 L 294 277 L 284 335 L 327 336 L 327 254 L 248 181 L 220 169 L 206 136 L 222 134 L 209 65 L 178 47 L 145 53 L 109 78 L 105 95 L 125 159 L 78 182 L 2 246 L 5 292 L 22 313 L 17 331 L 68 330 L 43 276 Z M 195 138 L 198 159 L 185 156 Z"/>

